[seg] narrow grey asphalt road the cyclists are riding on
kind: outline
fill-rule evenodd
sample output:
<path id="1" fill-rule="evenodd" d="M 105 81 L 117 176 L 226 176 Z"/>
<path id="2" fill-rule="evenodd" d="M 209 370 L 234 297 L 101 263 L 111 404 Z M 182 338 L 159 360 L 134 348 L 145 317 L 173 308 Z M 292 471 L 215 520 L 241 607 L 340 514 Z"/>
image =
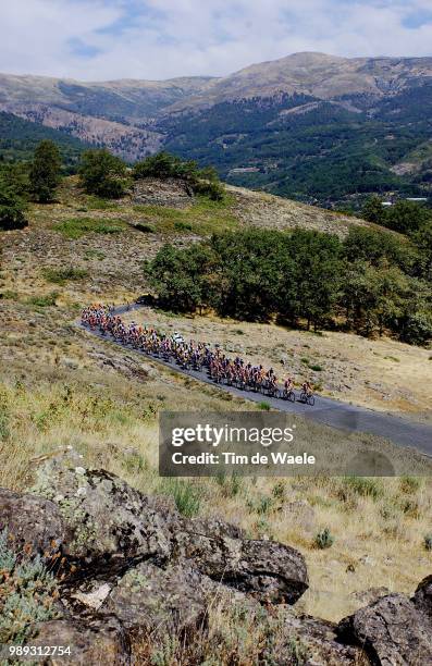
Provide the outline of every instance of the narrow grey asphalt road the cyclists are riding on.
<path id="1" fill-rule="evenodd" d="M 115 309 L 115 314 L 123 314 L 126 311 L 137 310 L 141 306 L 139 305 L 133 305 L 131 307 L 122 306 Z M 90 329 L 82 326 L 82 324 L 79 324 L 79 326 L 92 335 L 100 337 L 101 340 L 109 340 L 124 347 L 125 349 L 134 350 L 136 354 L 147 356 L 144 354 L 144 351 L 138 351 L 129 345 L 122 345 L 112 337 L 101 335 L 99 331 L 90 331 Z M 149 356 L 148 358 L 151 358 L 158 363 L 161 363 L 171 370 L 175 370 L 181 374 L 187 374 L 188 377 L 193 377 L 198 381 L 205 382 L 206 384 L 211 384 L 221 391 L 227 391 L 229 393 L 244 399 L 254 400 L 256 403 L 266 402 L 273 409 L 298 414 L 313 419 L 319 423 L 325 423 L 326 425 L 331 425 L 332 428 L 336 428 L 338 430 L 365 432 L 379 435 L 394 442 L 395 444 L 415 447 L 421 453 L 432 457 L 432 425 L 416 423 L 402 417 L 374 411 L 372 409 L 366 409 L 365 407 L 348 405 L 346 403 L 340 403 L 338 400 L 319 395 L 316 395 L 314 407 L 310 407 L 309 405 L 305 405 L 298 400 L 295 403 L 289 403 L 281 398 L 263 396 L 260 393 L 242 391 L 239 388 L 235 388 L 234 386 L 226 386 L 225 384 L 214 384 L 214 382 L 209 379 L 206 371 L 198 372 L 195 370 L 183 370 L 175 362 L 166 362 L 156 356 Z"/>

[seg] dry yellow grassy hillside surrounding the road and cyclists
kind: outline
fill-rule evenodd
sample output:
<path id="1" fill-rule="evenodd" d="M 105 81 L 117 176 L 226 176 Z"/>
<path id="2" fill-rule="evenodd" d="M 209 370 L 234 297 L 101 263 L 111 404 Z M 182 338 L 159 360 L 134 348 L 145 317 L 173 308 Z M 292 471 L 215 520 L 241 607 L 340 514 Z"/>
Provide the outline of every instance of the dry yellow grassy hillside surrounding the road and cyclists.
<path id="1" fill-rule="evenodd" d="M 308 218 L 305 210 L 299 208 L 300 222 L 314 215 L 316 224 L 331 223 L 325 211 L 312 209 Z M 249 223 L 255 214 L 251 209 Z M 340 223 L 337 215 L 332 220 Z M 136 227 L 138 222 L 144 231 Z M 431 531 L 430 477 L 162 481 L 157 473 L 160 410 L 258 406 L 100 342 L 75 325 L 84 305 L 123 304 L 145 292 L 143 260 L 155 256 L 164 240 L 185 245 L 202 233 L 246 223 L 247 197 L 236 190 L 223 205 L 200 199 L 184 210 L 137 208 L 128 199 L 108 203 L 88 197 L 70 178 L 57 203 L 32 208 L 28 229 L 2 234 L 0 484 L 25 486 L 34 458 L 74 446 L 85 466 L 109 469 L 146 492 L 168 493 L 186 515 L 223 515 L 250 536 L 299 548 L 311 579 L 299 609 L 338 619 L 362 605 L 359 591 L 385 585 L 412 593 L 430 574 L 431 555 L 424 547 Z M 169 312 L 148 311 L 147 318 L 263 361 L 277 362 L 289 349 L 299 374 L 305 359 L 320 363 L 324 392 L 332 391 L 335 380 L 350 384 L 350 390 L 334 388 L 344 399 L 393 410 L 424 406 L 424 392 L 419 405 L 411 391 L 416 372 L 427 372 L 431 362 L 424 349 Z M 353 449 L 365 442 L 379 446 L 395 461 L 408 460 L 412 474 L 424 470 L 421 457 L 377 437 L 347 437 L 312 423 L 308 429 L 308 436 L 340 439 Z M 326 551 L 314 545 L 324 528 L 335 540 Z"/>

